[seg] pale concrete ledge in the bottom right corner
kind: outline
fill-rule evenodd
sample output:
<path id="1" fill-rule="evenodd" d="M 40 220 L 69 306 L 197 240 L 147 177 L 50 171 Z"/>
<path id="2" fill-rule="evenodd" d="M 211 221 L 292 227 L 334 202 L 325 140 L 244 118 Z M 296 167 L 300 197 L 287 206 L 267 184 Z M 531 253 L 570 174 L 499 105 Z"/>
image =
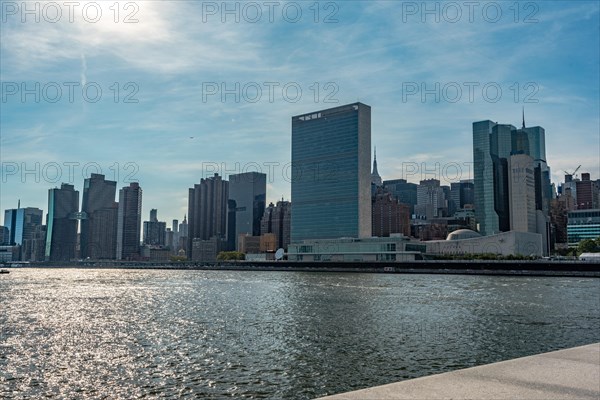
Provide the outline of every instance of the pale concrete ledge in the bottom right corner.
<path id="1" fill-rule="evenodd" d="M 426 376 L 323 400 L 600 399 L 600 343 Z"/>

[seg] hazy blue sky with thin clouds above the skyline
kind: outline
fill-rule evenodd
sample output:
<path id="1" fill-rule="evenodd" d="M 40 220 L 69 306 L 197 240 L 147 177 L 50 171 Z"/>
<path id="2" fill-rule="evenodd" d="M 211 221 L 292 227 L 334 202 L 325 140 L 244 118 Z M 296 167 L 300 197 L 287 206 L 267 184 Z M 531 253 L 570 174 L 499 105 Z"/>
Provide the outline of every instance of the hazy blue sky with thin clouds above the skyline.
<path id="1" fill-rule="evenodd" d="M 48 189 L 81 199 L 91 173 L 139 182 L 142 218 L 168 227 L 215 172 L 267 173 L 267 201 L 290 199 L 291 117 L 356 101 L 384 180 L 472 178 L 472 123 L 523 110 L 553 182 L 600 178 L 599 9 L 1 0 L 0 209 L 46 213 Z"/>

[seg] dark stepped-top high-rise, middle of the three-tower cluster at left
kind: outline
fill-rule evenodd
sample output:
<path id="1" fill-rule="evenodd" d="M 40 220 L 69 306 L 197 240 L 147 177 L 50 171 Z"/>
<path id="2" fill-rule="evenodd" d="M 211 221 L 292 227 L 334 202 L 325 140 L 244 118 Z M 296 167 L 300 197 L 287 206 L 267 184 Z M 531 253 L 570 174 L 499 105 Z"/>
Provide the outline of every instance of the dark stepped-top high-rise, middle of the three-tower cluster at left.
<path id="1" fill-rule="evenodd" d="M 117 182 L 104 175 L 85 179 L 81 211 L 81 258 L 114 259 L 117 255 Z"/>

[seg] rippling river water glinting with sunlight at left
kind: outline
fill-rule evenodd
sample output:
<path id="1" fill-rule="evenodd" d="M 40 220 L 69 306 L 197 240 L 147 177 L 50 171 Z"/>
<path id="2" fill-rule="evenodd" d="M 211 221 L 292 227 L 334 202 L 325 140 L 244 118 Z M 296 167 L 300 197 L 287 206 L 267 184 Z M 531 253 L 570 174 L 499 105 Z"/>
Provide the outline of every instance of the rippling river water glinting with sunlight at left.
<path id="1" fill-rule="evenodd" d="M 0 398 L 310 399 L 600 341 L 600 279 L 19 269 Z"/>

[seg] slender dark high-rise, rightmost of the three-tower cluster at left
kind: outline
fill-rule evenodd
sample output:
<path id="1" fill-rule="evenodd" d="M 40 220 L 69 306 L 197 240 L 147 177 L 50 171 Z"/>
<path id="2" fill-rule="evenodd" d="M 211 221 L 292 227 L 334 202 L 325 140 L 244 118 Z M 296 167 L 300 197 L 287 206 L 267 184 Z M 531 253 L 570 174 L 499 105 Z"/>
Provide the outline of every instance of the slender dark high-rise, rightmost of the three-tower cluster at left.
<path id="1" fill-rule="evenodd" d="M 117 216 L 117 259 L 135 260 L 140 257 L 142 229 L 142 188 L 137 182 L 119 190 Z"/>

